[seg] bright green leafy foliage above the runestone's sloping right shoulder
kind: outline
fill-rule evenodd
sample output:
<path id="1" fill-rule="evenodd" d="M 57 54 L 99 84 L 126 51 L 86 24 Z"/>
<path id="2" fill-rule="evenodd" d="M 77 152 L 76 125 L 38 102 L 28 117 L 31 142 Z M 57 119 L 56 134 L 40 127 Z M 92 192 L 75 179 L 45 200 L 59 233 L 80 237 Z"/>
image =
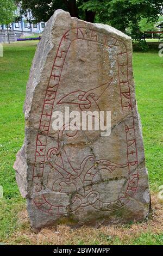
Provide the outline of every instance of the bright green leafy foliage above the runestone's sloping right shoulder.
<path id="1" fill-rule="evenodd" d="M 156 22 L 162 15 L 162 0 L 90 0 L 80 8 L 96 11 L 98 21 L 126 32 L 130 28 L 133 39 L 141 38 L 140 21 Z"/>

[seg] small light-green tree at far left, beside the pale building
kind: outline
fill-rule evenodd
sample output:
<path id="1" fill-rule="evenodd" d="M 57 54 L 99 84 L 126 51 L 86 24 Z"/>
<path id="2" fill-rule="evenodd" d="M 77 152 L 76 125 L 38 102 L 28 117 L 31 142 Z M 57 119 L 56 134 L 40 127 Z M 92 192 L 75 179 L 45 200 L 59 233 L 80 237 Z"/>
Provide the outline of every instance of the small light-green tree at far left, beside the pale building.
<path id="1" fill-rule="evenodd" d="M 7 30 L 9 24 L 14 21 L 14 10 L 16 5 L 14 0 L 0 0 L 0 24 L 7 25 Z M 10 44 L 9 31 L 8 31 L 8 41 Z"/>

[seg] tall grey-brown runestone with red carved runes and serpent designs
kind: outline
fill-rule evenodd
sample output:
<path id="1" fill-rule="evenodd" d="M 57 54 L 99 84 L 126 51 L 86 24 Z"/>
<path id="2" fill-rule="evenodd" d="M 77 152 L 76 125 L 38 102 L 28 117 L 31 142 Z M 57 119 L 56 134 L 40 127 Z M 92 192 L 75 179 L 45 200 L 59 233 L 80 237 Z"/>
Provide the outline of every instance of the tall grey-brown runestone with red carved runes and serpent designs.
<path id="1" fill-rule="evenodd" d="M 52 113 L 65 106 L 111 111 L 111 135 L 54 131 Z M 33 228 L 127 223 L 148 215 L 127 35 L 55 11 L 35 53 L 24 113 L 26 138 L 14 168 Z"/>

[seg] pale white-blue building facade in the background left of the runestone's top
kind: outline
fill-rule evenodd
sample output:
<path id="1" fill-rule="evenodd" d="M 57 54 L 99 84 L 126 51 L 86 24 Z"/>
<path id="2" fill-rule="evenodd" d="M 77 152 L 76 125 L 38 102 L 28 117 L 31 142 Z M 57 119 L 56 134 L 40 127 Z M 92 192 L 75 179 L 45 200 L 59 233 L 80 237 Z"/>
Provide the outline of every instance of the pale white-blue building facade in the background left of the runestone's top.
<path id="1" fill-rule="evenodd" d="M 15 15 L 20 16 L 21 5 L 17 6 L 15 10 Z M 31 22 L 28 22 L 30 20 Z M 27 33 L 42 33 L 43 29 L 45 28 L 46 23 L 34 23 L 31 11 L 28 11 L 27 17 L 22 16 L 20 21 L 11 23 L 8 28 L 12 31 L 20 31 L 20 32 L 27 32 Z M 7 26 L 0 25 L 0 29 L 7 29 Z"/>

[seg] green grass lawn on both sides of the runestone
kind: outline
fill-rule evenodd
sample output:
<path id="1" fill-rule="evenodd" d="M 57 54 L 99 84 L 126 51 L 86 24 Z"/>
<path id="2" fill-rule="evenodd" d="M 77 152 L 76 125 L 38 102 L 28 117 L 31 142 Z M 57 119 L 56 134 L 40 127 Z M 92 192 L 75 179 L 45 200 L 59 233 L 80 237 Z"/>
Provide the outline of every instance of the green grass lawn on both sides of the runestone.
<path id="1" fill-rule="evenodd" d="M 0 199 L 0 242 L 5 243 L 32 243 L 29 223 L 20 221 L 20 215 L 18 215 L 26 209 L 26 202 L 18 192 L 12 166 L 15 155 L 23 144 L 23 102 L 36 44 L 37 41 L 6 44 L 4 57 L 0 58 L 0 185 L 4 189 L 4 198 Z M 133 64 L 149 181 L 153 193 L 158 193 L 159 186 L 163 185 L 163 57 L 158 56 L 157 50 L 146 53 L 135 52 Z M 139 227 L 139 224 L 136 225 Z M 123 229 L 126 231 L 132 227 L 131 224 L 131 227 L 127 225 Z M 95 231 L 95 229 L 92 230 L 92 234 Z M 20 235 L 14 238 L 19 232 Z M 28 235 L 22 235 L 22 232 Z M 72 231 L 70 233 L 72 234 Z M 78 235 L 75 233 L 74 236 L 77 240 L 73 240 L 71 235 L 71 239 L 67 238 L 65 243 L 71 244 L 72 241 L 76 244 L 87 243 L 82 240 L 82 229 L 79 230 Z M 98 230 L 91 241 L 93 244 L 109 245 L 125 243 L 161 245 L 163 243 L 161 231 L 157 233 L 148 228 L 141 234 L 126 239 L 119 233 L 109 237 L 105 230 Z"/>

